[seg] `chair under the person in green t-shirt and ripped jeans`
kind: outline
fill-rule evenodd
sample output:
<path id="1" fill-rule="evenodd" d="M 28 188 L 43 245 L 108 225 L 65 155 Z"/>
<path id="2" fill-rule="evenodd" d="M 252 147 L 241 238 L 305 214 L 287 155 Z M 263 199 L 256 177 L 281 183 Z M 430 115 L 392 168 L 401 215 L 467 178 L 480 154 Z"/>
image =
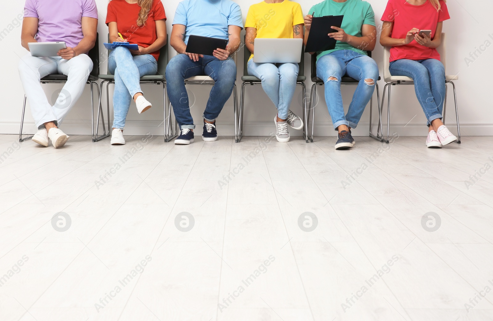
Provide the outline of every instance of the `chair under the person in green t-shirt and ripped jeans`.
<path id="1" fill-rule="evenodd" d="M 366 52 L 368 54 L 368 57 L 371 58 L 371 51 Z M 378 76 L 378 79 L 380 80 L 380 76 Z M 311 96 L 310 96 L 310 110 L 312 110 L 313 115 L 312 115 L 312 137 L 307 137 L 307 143 L 308 139 L 313 143 L 313 132 L 314 132 L 314 127 L 315 127 L 315 122 L 314 122 L 314 117 L 315 117 L 315 99 L 317 97 L 317 85 L 321 86 L 324 84 L 323 80 L 317 77 L 317 54 L 312 55 L 312 82 L 314 83 L 312 85 L 312 91 L 311 91 Z M 349 77 L 348 75 L 344 75 L 341 78 L 341 85 L 358 85 L 359 82 L 354 79 Z M 378 128 L 377 128 L 377 135 L 375 136 L 372 134 L 371 129 L 371 118 L 372 118 L 372 109 L 373 109 L 373 96 L 370 99 L 370 133 L 369 136 L 372 138 L 375 138 L 376 140 L 380 140 L 381 142 L 384 142 L 383 137 L 379 136 L 379 132 L 382 132 L 382 116 L 381 116 L 381 110 L 380 110 L 380 91 L 378 87 L 378 83 L 375 81 L 375 87 L 377 89 L 377 101 L 378 101 L 378 114 L 379 114 L 379 123 L 378 123 Z M 310 112 L 308 111 L 308 113 Z M 380 130 L 379 130 L 380 129 Z M 383 135 L 383 132 L 382 132 Z"/>

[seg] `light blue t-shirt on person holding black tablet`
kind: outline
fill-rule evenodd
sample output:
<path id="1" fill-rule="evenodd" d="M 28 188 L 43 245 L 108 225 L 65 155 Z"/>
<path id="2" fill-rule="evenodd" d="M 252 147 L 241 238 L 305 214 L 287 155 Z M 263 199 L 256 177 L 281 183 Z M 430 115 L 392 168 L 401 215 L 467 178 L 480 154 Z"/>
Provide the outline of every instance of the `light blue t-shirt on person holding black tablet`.
<path id="1" fill-rule="evenodd" d="M 228 40 L 228 26 L 243 29 L 243 18 L 240 6 L 231 0 L 183 0 L 173 24 L 186 26 L 186 44 L 190 34 Z"/>

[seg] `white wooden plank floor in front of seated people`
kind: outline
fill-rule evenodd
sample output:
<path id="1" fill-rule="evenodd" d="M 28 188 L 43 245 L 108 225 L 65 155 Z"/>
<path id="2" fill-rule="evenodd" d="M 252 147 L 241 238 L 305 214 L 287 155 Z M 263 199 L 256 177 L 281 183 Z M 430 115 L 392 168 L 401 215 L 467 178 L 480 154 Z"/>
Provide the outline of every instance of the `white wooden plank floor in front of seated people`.
<path id="1" fill-rule="evenodd" d="M 493 137 L 266 138 L 0 135 L 0 320 L 493 321 Z"/>

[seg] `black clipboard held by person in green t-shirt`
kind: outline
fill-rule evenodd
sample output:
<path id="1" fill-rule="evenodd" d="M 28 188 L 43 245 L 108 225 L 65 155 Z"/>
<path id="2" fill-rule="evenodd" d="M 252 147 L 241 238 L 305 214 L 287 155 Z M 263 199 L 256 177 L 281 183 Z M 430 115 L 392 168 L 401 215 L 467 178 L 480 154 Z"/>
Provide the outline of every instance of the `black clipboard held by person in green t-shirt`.
<path id="1" fill-rule="evenodd" d="M 334 49 L 337 40 L 329 37 L 327 34 L 337 32 L 337 30 L 330 27 L 335 26 L 341 28 L 343 18 L 344 15 L 314 17 L 310 33 L 308 34 L 305 52 L 318 52 Z"/>

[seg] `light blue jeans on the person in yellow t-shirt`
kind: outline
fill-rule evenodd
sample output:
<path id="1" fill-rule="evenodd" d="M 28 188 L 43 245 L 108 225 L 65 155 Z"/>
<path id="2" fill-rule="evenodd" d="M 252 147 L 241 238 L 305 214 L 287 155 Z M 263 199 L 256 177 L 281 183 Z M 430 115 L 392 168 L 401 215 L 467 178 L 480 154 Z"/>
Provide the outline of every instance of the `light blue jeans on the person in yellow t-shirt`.
<path id="1" fill-rule="evenodd" d="M 298 64 L 254 63 L 253 59 L 248 61 L 248 74 L 262 81 L 262 88 L 278 109 L 278 117 L 281 119 L 287 118 L 299 68 Z"/>

